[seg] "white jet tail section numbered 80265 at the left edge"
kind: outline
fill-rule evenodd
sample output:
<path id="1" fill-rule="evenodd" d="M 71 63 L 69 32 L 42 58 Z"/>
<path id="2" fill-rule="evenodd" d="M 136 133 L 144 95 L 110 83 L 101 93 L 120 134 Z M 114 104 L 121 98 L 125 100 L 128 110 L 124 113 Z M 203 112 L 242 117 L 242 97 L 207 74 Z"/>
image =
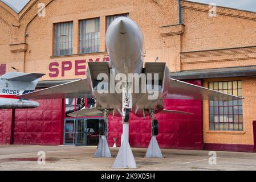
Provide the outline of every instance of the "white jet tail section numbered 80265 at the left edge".
<path id="1" fill-rule="evenodd" d="M 38 102 L 17 97 L 33 92 L 42 73 L 9 72 L 0 76 L 0 109 L 27 109 L 39 106 Z"/>

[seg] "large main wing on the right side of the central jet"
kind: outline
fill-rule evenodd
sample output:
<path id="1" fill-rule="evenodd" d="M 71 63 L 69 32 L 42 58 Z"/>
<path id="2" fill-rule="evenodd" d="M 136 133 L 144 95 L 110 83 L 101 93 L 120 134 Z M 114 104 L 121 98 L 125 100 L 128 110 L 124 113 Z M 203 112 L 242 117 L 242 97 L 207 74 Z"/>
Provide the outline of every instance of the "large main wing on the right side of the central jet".
<path id="1" fill-rule="evenodd" d="M 170 85 L 166 98 L 210 101 L 232 101 L 243 99 L 243 97 L 232 96 L 230 94 L 204 88 L 202 86 L 189 84 L 187 82 L 175 80 L 173 78 L 170 78 Z"/>

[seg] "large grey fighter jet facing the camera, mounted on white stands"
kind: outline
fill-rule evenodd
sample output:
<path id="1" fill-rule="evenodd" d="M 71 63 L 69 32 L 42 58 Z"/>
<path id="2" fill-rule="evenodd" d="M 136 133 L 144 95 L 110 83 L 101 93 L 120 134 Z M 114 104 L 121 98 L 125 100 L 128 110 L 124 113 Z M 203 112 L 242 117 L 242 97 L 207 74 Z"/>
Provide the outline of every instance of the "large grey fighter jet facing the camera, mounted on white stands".
<path id="1" fill-rule="evenodd" d="M 34 100 L 95 98 L 95 107 L 83 108 L 68 115 L 72 117 L 103 115 L 105 121 L 109 114 L 122 115 L 123 141 L 113 168 L 137 167 L 128 140 L 129 112 L 141 117 L 150 116 L 152 139 L 146 157 L 161 158 L 162 154 L 156 140 L 158 127 L 155 114 L 193 114 L 165 110 L 165 99 L 218 101 L 242 99 L 242 97 L 174 80 L 170 78 L 170 71 L 165 63 L 155 61 L 145 63 L 143 67 L 143 33 L 129 18 L 120 17 L 113 20 L 108 27 L 105 40 L 110 62 L 88 63 L 87 78 L 23 94 L 19 97 Z M 111 156 L 103 131 L 100 132 L 101 139 L 95 153 L 96 157 Z"/>

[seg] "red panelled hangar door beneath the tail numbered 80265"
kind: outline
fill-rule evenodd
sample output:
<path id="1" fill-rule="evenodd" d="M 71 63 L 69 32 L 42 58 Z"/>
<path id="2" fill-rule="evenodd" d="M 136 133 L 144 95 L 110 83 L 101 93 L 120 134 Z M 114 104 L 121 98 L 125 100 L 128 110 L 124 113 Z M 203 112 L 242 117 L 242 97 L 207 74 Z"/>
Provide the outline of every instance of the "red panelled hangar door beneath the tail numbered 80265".
<path id="1" fill-rule="evenodd" d="M 14 144 L 62 144 L 62 100 L 39 100 L 36 109 L 16 109 Z M 11 110 L 0 111 L 0 143 L 10 144 Z"/>

